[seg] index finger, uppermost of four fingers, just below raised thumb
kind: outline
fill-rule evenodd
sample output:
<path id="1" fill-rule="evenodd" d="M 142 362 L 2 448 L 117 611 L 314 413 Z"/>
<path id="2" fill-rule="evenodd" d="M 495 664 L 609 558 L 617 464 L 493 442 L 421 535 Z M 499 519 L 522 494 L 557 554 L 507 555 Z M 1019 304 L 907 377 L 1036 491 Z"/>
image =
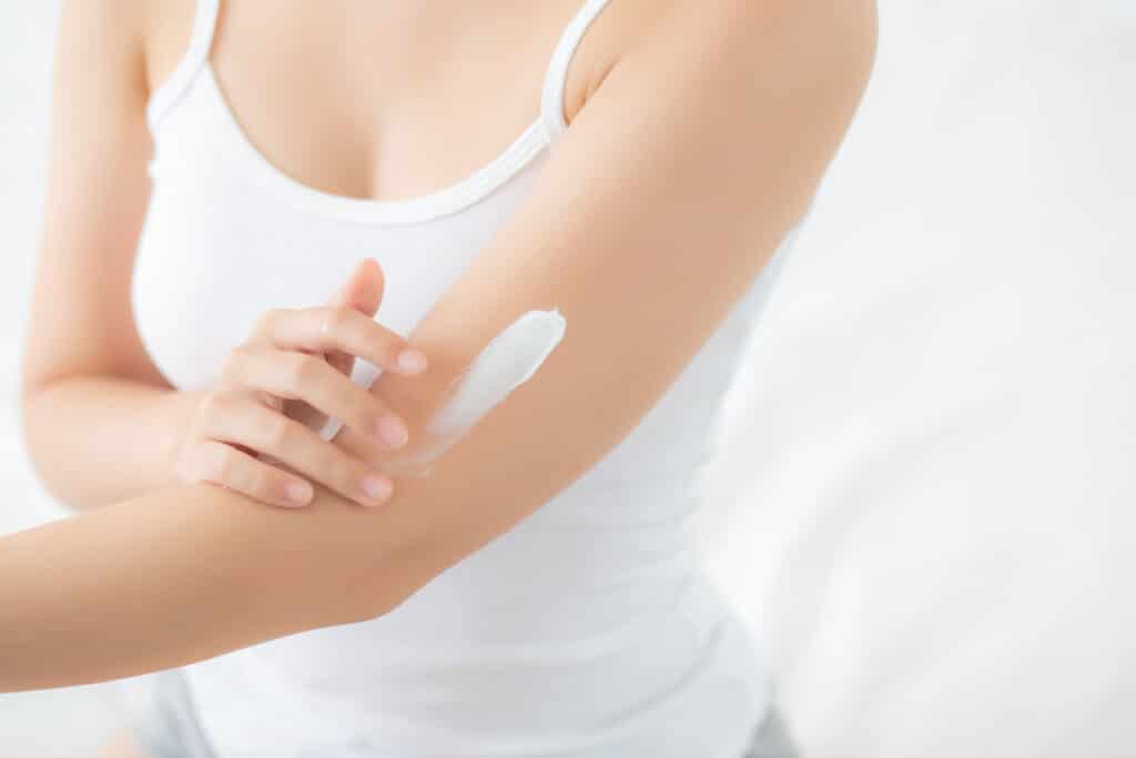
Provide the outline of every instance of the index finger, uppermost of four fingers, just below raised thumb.
<path id="1" fill-rule="evenodd" d="M 412 376 L 426 369 L 426 356 L 374 318 L 345 306 L 276 308 L 256 328 L 257 341 L 284 350 L 340 351 L 377 368 Z"/>

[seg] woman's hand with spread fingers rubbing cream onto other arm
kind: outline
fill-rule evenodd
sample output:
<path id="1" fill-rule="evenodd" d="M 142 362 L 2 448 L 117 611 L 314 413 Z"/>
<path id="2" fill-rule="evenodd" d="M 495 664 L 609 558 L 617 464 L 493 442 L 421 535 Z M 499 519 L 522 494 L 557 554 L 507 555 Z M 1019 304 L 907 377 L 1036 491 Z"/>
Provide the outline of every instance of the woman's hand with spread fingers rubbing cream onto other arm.
<path id="1" fill-rule="evenodd" d="M 382 273 L 368 259 L 328 306 L 267 311 L 202 394 L 178 445 L 179 481 L 285 507 L 307 505 L 311 481 L 365 506 L 385 502 L 390 477 L 318 433 L 332 417 L 390 450 L 408 440 L 400 415 L 350 378 L 356 357 L 403 375 L 426 367 L 420 351 L 374 320 L 382 297 Z"/>

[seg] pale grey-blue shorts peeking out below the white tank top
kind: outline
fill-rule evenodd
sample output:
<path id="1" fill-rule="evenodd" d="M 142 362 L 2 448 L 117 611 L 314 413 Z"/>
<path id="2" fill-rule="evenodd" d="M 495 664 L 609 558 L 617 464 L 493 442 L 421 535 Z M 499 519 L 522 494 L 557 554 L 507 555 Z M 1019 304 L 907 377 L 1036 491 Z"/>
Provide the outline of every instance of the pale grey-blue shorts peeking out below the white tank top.
<path id="1" fill-rule="evenodd" d="M 131 716 L 131 733 L 145 758 L 217 758 L 201 728 L 181 669 L 147 677 L 150 691 L 144 705 Z M 754 731 L 753 740 L 738 758 L 800 758 L 776 709 Z M 321 756 L 320 758 L 336 758 Z"/>

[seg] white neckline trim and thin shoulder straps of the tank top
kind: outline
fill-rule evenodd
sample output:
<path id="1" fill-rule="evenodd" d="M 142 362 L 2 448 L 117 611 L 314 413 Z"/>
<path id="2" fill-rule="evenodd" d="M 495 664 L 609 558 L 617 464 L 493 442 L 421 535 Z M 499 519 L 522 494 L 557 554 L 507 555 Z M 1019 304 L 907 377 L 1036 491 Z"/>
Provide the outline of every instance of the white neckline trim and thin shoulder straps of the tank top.
<path id="1" fill-rule="evenodd" d="M 534 120 L 488 163 L 438 190 L 408 198 L 371 199 L 328 192 L 294 178 L 273 164 L 241 126 L 209 59 L 217 23 L 218 0 L 198 0 L 190 45 L 173 74 L 152 93 L 147 123 L 156 145 L 166 116 L 200 83 L 215 109 L 215 123 L 224 132 L 225 159 L 257 186 L 291 207 L 339 220 L 368 224 L 416 224 L 441 218 L 474 206 L 520 173 L 567 128 L 563 97 L 569 64 L 584 33 L 610 0 L 585 0 L 565 28 L 545 70 L 540 110 Z M 159 150 L 150 161 L 156 175 Z"/>

